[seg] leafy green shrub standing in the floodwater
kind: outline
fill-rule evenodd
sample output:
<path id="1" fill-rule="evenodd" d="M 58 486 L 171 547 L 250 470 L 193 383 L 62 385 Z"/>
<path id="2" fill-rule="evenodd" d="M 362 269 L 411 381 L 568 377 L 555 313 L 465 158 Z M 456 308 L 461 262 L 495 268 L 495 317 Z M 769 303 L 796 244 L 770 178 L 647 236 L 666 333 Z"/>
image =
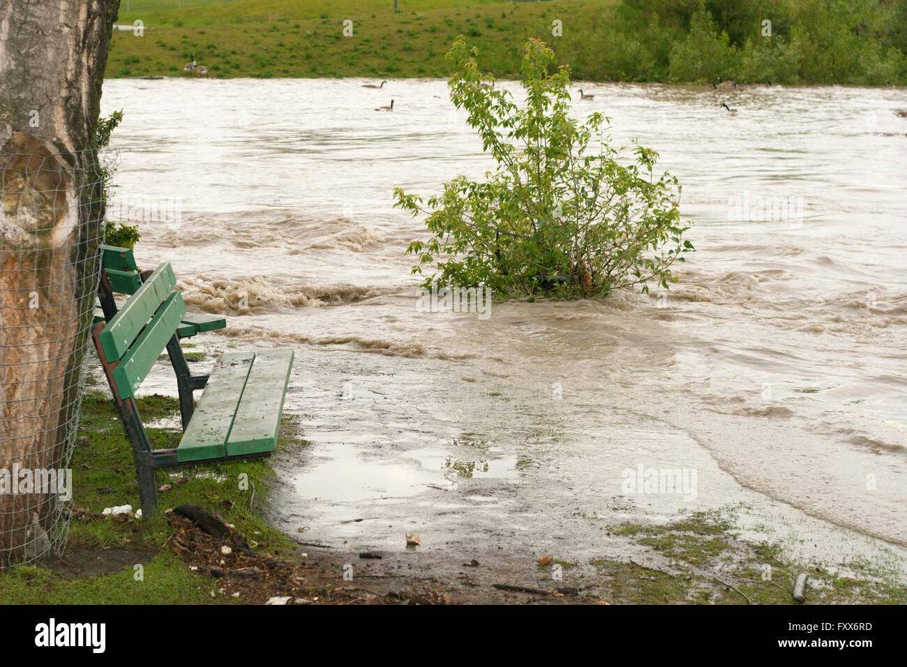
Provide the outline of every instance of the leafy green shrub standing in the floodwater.
<path id="1" fill-rule="evenodd" d="M 497 170 L 483 182 L 457 176 L 427 202 L 395 189 L 396 207 L 428 214 L 432 237 L 406 250 L 419 258 L 414 273 L 425 265 L 439 271 L 424 286 L 437 280 L 501 296 L 563 297 L 630 285 L 648 291 L 649 280 L 668 288 L 671 265 L 693 246 L 680 238 L 688 227 L 677 179 L 653 173 L 658 153 L 635 142 L 632 157 L 613 147 L 600 113 L 572 119 L 569 70 L 554 68 L 543 42 L 525 46 L 522 107 L 488 85 L 477 56 L 457 37 L 448 86 Z"/>

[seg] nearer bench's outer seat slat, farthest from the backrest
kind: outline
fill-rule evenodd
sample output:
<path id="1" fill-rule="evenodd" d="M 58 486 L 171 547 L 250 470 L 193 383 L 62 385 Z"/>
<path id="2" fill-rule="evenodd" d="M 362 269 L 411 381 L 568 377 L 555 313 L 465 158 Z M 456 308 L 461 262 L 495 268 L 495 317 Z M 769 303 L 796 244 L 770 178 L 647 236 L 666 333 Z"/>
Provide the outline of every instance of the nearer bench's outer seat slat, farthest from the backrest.
<path id="1" fill-rule="evenodd" d="M 256 352 L 227 440 L 228 456 L 269 452 L 277 445 L 291 368 L 290 348 Z"/>

